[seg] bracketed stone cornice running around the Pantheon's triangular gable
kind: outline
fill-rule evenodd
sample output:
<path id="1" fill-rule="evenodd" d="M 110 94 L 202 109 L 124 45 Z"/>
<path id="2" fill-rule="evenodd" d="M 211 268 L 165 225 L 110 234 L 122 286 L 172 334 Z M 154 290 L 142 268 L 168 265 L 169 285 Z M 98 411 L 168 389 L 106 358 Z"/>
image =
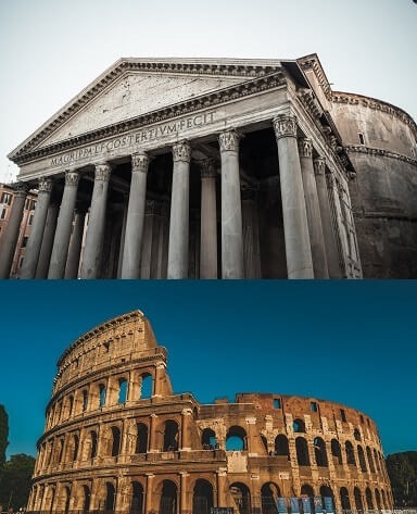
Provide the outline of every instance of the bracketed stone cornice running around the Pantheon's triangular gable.
<path id="1" fill-rule="evenodd" d="M 122 63 L 123 64 L 123 63 Z M 143 63 L 137 63 L 143 64 Z M 178 65 L 177 65 L 178 66 Z M 176 67 L 176 70 L 185 70 L 186 73 L 186 65 L 181 64 L 184 67 Z M 189 65 L 191 66 L 191 64 Z M 197 68 L 197 65 L 193 64 L 191 70 Z M 206 65 L 201 65 L 200 73 L 213 73 L 213 71 L 218 65 L 214 67 L 205 67 Z M 118 67 L 117 67 L 118 68 Z M 124 66 L 124 70 L 127 67 Z M 162 67 L 165 70 L 165 65 Z M 154 68 L 154 71 L 162 68 Z M 130 70 L 130 68 L 129 68 Z M 166 68 L 167 70 L 167 68 Z M 184 114 L 193 113 L 194 111 L 199 111 L 202 109 L 207 109 L 211 106 L 216 106 L 220 103 L 237 100 L 239 98 L 244 98 L 250 95 L 258 93 L 265 91 L 267 89 L 273 89 L 275 87 L 279 87 L 286 84 L 286 75 L 281 67 L 276 67 L 275 70 L 269 66 L 242 66 L 240 68 L 237 66 L 233 68 L 236 73 L 241 73 L 242 77 L 247 77 L 247 80 L 241 83 L 235 84 L 229 87 L 225 87 L 223 89 L 218 89 L 208 93 L 204 93 L 198 97 L 193 97 L 191 99 L 175 103 L 173 105 L 168 105 L 166 108 L 159 109 L 153 112 L 149 112 L 123 122 L 118 122 L 112 125 L 108 125 L 105 127 L 91 130 L 73 138 L 65 139 L 63 141 L 55 142 L 50 146 L 36 148 L 41 140 L 47 138 L 53 130 L 58 128 L 59 125 L 64 123 L 66 120 L 66 114 L 56 115 L 54 122 L 51 122 L 43 130 L 39 131 L 39 134 L 33 136 L 27 140 L 26 143 L 23 143 L 16 150 L 14 150 L 9 158 L 15 162 L 16 164 L 24 164 L 31 160 L 41 159 L 47 155 L 52 155 L 58 152 L 66 151 L 73 148 L 76 148 L 81 145 L 88 145 L 91 142 L 99 141 L 103 138 L 119 136 L 129 130 L 144 127 L 147 125 L 152 125 L 154 123 L 164 122 L 176 116 L 180 116 Z M 223 71 L 223 73 L 231 74 L 230 65 L 225 65 L 225 70 L 218 70 L 218 72 Z M 173 73 L 173 70 L 170 71 Z M 188 73 L 188 72 L 187 72 Z M 236 75 L 233 75 L 236 76 Z M 118 77 L 118 75 L 117 75 Z M 248 78 L 249 77 L 249 78 Z M 114 80 L 114 77 L 113 79 Z M 108 85 L 109 83 L 106 83 Z M 101 86 L 104 87 L 104 86 Z M 80 104 L 79 101 L 74 102 L 68 108 L 71 111 L 68 116 L 75 114 L 76 110 L 79 110 L 81 106 L 86 104 L 89 100 L 91 100 L 92 95 L 97 95 L 97 92 L 87 91 L 83 97 L 83 103 Z M 78 105 L 78 106 L 76 106 Z M 65 111 L 66 112 L 66 111 Z"/>

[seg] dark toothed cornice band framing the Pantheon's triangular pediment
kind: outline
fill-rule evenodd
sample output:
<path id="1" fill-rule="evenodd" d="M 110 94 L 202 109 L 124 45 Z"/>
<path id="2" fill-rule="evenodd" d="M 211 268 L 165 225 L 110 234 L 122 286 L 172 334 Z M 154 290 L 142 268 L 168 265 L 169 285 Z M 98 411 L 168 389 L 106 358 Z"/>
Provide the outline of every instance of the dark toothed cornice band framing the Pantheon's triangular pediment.
<path id="1" fill-rule="evenodd" d="M 122 63 L 124 64 L 124 63 Z M 122 65 L 121 64 L 121 65 Z M 227 67 L 227 66 L 226 66 Z M 252 66 L 254 67 L 254 66 Z M 117 68 L 116 68 L 117 70 Z M 131 66 L 128 66 L 128 70 L 131 70 Z M 70 148 L 74 148 L 78 145 L 89 143 L 92 141 L 97 141 L 103 137 L 115 136 L 125 133 L 126 130 L 130 130 L 134 128 L 138 128 L 141 126 L 150 125 L 152 123 L 162 122 L 165 120 L 169 120 L 173 116 L 178 116 L 181 114 L 187 114 L 194 112 L 199 109 L 204 109 L 211 105 L 216 105 L 228 100 L 235 100 L 237 98 L 245 97 L 248 95 L 252 95 L 254 92 L 261 92 L 265 89 L 270 89 L 276 86 L 280 86 L 286 84 L 286 77 L 282 71 L 276 70 L 273 73 L 266 74 L 265 67 L 262 68 L 262 72 L 254 72 L 255 78 L 245 80 L 243 83 L 236 84 L 235 86 L 228 86 L 223 89 L 218 89 L 216 91 L 212 91 L 207 95 L 202 95 L 200 97 L 194 97 L 193 99 L 186 100 L 184 102 L 175 103 L 173 105 L 163 108 L 157 111 L 153 111 L 151 113 L 142 114 L 140 116 L 126 120 L 114 125 L 109 125 L 106 127 L 99 128 L 97 130 L 92 130 L 90 133 L 83 134 L 80 136 L 66 139 L 65 141 L 61 141 L 49 147 L 45 147 L 39 150 L 33 150 L 34 147 L 39 145 L 43 139 L 46 139 L 53 130 L 55 130 L 60 125 L 65 123 L 65 121 L 73 116 L 76 112 L 78 112 L 83 106 L 86 105 L 88 101 L 90 101 L 94 96 L 96 92 L 91 91 L 90 89 L 87 91 L 79 100 L 74 101 L 68 109 L 56 116 L 56 118 L 51 122 L 47 127 L 43 128 L 39 134 L 31 137 L 25 145 L 22 145 L 18 150 L 14 150 L 8 156 L 16 164 L 23 164 L 28 162 L 31 159 L 42 158 L 45 155 L 49 155 L 53 152 L 67 150 Z M 143 70 L 147 71 L 147 70 Z M 152 71 L 160 71 L 159 68 L 152 68 Z M 166 70 L 168 71 L 168 70 Z M 175 70 L 176 73 L 179 73 L 179 70 Z M 112 72 L 113 73 L 113 72 Z M 185 73 L 185 72 L 184 72 Z M 213 73 L 213 72 L 212 72 Z M 218 74 L 218 73 L 217 73 Z M 112 75 L 112 74 L 110 74 Z M 225 75 L 231 75 L 231 73 L 225 73 Z M 239 74 L 237 74 L 239 76 Z M 250 73 L 248 75 L 251 77 Z M 114 80 L 114 77 L 112 77 Z M 101 83 L 100 83 L 101 84 Z M 101 88 L 100 88 L 101 89 Z"/>

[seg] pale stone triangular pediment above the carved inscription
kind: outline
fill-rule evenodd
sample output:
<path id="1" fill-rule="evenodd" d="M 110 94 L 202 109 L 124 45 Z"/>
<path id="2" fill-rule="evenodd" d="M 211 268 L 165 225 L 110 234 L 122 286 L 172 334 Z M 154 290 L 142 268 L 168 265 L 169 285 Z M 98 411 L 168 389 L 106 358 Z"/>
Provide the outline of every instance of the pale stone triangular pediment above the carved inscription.
<path id="1" fill-rule="evenodd" d="M 143 116 L 225 90 L 280 68 L 276 60 L 122 59 L 70 101 L 9 156 Z"/>

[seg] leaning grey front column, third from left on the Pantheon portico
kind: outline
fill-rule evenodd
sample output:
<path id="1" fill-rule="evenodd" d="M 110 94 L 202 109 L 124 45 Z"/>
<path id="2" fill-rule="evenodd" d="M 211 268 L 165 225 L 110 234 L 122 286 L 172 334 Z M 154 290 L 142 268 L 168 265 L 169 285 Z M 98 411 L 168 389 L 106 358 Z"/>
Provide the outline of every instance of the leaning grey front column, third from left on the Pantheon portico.
<path id="1" fill-rule="evenodd" d="M 48 278 L 64 278 L 65 275 L 78 183 L 79 174 L 77 172 L 65 172 L 65 188 L 58 216 Z"/>

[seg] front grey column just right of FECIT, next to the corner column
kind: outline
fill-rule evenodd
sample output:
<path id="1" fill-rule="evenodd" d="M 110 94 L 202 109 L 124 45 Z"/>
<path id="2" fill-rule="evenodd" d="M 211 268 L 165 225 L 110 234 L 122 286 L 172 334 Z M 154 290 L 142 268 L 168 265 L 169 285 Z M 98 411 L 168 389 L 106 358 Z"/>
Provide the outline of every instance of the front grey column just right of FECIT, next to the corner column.
<path id="1" fill-rule="evenodd" d="M 239 139 L 236 130 L 218 136 L 222 155 L 222 276 L 243 278 Z"/>

